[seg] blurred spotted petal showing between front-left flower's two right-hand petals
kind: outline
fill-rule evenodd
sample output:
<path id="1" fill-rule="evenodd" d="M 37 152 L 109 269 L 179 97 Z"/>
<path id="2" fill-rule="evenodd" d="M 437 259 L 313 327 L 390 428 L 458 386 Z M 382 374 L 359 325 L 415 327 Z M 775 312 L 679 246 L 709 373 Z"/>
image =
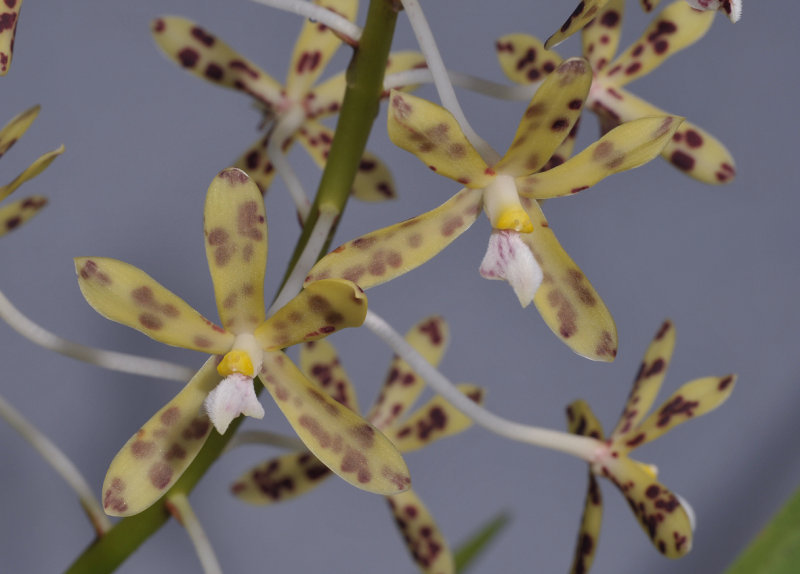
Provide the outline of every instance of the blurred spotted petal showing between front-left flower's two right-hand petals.
<path id="1" fill-rule="evenodd" d="M 325 339 L 300 346 L 300 370 L 337 402 L 354 413 L 361 410 L 355 387 L 339 361 L 336 348 Z"/>

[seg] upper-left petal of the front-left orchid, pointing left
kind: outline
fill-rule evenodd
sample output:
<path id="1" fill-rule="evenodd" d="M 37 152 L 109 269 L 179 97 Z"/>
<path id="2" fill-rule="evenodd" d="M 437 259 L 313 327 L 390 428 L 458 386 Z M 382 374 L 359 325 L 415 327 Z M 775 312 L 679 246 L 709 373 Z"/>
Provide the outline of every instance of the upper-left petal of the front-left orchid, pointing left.
<path id="1" fill-rule="evenodd" d="M 103 317 L 186 349 L 227 353 L 234 336 L 192 309 L 147 273 L 108 257 L 76 257 L 78 286 Z"/>

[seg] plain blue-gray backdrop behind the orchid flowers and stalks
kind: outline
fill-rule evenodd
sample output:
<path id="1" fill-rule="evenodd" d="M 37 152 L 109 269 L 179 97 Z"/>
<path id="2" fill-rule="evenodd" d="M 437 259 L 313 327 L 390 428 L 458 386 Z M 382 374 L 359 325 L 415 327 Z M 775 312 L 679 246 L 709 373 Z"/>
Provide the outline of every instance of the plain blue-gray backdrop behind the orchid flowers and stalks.
<path id="1" fill-rule="evenodd" d="M 563 428 L 564 406 L 583 397 L 611 428 L 664 317 L 675 321 L 678 344 L 661 399 L 699 376 L 740 375 L 722 409 L 637 452 L 694 505 L 694 550 L 679 562 L 662 558 L 622 497 L 603 484 L 606 516 L 595 572 L 719 572 L 800 482 L 792 177 L 798 12 L 793 2 L 760 4 L 746 0 L 736 25 L 720 15 L 698 45 L 631 86 L 725 142 L 738 164 L 733 184 L 706 187 L 656 161 L 546 206 L 559 239 L 617 321 L 620 354 L 613 365 L 573 355 L 535 309 L 520 310 L 506 285 L 478 276 L 489 233 L 484 218 L 433 262 L 369 293 L 373 308 L 401 330 L 426 314 L 446 316 L 454 337 L 445 373 L 485 385 L 488 406 L 518 421 Z M 425 8 L 451 68 L 504 81 L 494 40 L 517 31 L 546 37 L 573 5 L 438 0 Z M 199 366 L 197 353 L 165 347 L 96 314 L 78 291 L 71 261 L 79 255 L 128 261 L 216 316 L 201 240 L 203 197 L 213 175 L 256 139 L 259 116 L 244 96 L 184 74 L 160 55 L 148 24 L 165 13 L 197 20 L 279 80 L 300 27 L 296 16 L 244 0 L 28 0 L 11 71 L 0 79 L 0 123 L 33 103 L 43 109 L 3 158 L 2 179 L 62 142 L 67 151 L 17 192 L 45 193 L 51 205 L 3 238 L 0 289 L 35 321 L 73 340 Z M 361 22 L 364 13 L 362 6 Z M 647 21 L 629 2 L 621 45 Z M 402 17 L 395 47 L 414 47 Z M 559 51 L 576 55 L 577 40 Z M 345 62 L 342 50 L 330 69 Z M 435 98 L 430 87 L 421 93 Z M 524 104 L 473 94 L 463 94 L 462 103 L 502 153 Z M 340 241 L 428 210 L 457 190 L 393 148 L 384 120 L 370 149 L 393 166 L 401 199 L 351 203 Z M 579 147 L 596 133 L 594 118 L 586 120 Z M 291 158 L 314 189 L 318 171 L 295 151 Z M 267 212 L 266 296 L 272 297 L 298 234 L 280 182 Z M 0 337 L 0 392 L 58 442 L 98 493 L 119 447 L 179 389 L 42 351 L 3 325 Z M 369 404 L 390 352 L 361 330 L 333 342 L 362 404 Z M 247 428 L 288 431 L 278 410 L 264 404 L 265 420 Z M 229 482 L 273 453 L 248 447 L 227 456 L 192 497 L 226 571 L 413 571 L 384 501 L 342 481 L 266 509 L 232 499 Z M 4 425 L 0 456 L 0 570 L 63 570 L 92 535 L 71 491 Z M 513 513 L 513 524 L 476 572 L 567 571 L 585 489 L 583 463 L 479 428 L 407 461 L 417 491 L 453 542 L 500 509 Z M 170 523 L 120 571 L 198 568 L 184 532 Z"/>

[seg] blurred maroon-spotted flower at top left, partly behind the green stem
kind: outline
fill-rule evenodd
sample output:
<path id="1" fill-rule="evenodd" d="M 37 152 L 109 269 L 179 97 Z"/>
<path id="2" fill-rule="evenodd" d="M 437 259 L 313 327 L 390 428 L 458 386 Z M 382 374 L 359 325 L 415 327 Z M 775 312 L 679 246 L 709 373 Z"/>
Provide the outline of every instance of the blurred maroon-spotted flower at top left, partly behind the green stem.
<path id="1" fill-rule="evenodd" d="M 318 0 L 349 20 L 355 18 L 357 0 Z M 267 157 L 271 138 L 285 152 L 299 140 L 311 158 L 323 167 L 333 141 L 333 130 L 319 120 L 335 114 L 344 98 L 344 72 L 314 85 L 341 44 L 328 27 L 306 20 L 295 44 L 286 84 L 282 86 L 257 65 L 241 56 L 214 34 L 177 16 L 163 16 L 152 25 L 153 37 L 171 60 L 192 74 L 214 84 L 243 92 L 255 100 L 264 113 L 265 124 L 272 124 L 235 162 L 266 192 L 275 175 Z M 424 67 L 425 59 L 415 52 L 392 54 L 386 73 Z M 272 123 L 274 120 L 274 123 Z M 395 196 L 388 168 L 367 152 L 362 157 L 353 184 L 353 196 L 364 201 L 380 201 Z"/>

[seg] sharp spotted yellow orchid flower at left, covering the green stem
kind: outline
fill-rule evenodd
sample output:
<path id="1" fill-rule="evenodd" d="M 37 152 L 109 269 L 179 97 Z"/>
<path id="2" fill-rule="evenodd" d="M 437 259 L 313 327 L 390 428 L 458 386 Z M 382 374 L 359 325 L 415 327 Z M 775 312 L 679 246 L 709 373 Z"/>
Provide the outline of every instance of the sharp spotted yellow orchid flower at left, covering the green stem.
<path id="1" fill-rule="evenodd" d="M 222 327 L 136 267 L 107 258 L 75 260 L 81 292 L 101 315 L 162 343 L 215 355 L 114 458 L 103 485 L 106 512 L 127 516 L 155 502 L 195 458 L 212 424 L 224 433 L 239 414 L 263 417 L 256 376 L 333 472 L 365 490 L 405 490 L 408 471 L 391 442 L 318 391 L 281 351 L 360 325 L 367 307 L 363 292 L 344 280 L 318 282 L 265 319 L 264 203 L 239 169 L 223 170 L 211 182 L 204 231 Z"/>

